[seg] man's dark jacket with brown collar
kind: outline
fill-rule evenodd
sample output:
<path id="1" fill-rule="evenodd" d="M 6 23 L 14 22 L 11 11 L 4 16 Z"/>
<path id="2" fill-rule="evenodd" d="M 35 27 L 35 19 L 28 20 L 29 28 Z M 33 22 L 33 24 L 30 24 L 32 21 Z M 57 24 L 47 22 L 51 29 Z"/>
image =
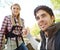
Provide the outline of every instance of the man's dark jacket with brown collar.
<path id="1" fill-rule="evenodd" d="M 60 50 L 60 23 L 55 23 L 47 30 L 48 42 L 47 50 Z M 43 31 L 40 32 L 42 41 L 40 50 L 46 50 L 46 36 Z"/>

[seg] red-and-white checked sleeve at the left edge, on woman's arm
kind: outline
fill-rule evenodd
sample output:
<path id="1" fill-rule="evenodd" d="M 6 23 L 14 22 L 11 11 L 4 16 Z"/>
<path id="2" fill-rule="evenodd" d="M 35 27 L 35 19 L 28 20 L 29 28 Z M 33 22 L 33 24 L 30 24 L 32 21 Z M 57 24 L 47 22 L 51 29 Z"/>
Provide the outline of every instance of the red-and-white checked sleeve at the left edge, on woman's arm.
<path id="1" fill-rule="evenodd" d="M 7 16 L 4 18 L 4 20 L 3 20 L 3 23 L 2 23 L 2 27 L 1 27 L 1 30 L 0 30 L 0 46 L 1 47 L 3 47 L 2 45 L 3 45 L 3 43 L 2 43 L 2 41 L 3 41 L 3 36 L 4 36 L 4 34 L 5 34 L 5 28 L 6 28 L 6 26 L 7 26 Z"/>

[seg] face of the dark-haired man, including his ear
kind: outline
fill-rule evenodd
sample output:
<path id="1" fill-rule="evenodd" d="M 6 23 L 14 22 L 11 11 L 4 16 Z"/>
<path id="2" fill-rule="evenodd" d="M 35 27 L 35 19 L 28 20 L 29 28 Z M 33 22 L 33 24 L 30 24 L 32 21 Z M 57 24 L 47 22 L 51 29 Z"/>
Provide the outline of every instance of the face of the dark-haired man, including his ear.
<path id="1" fill-rule="evenodd" d="M 36 12 L 36 20 L 38 26 L 42 31 L 45 31 L 49 26 L 53 24 L 54 16 L 50 16 L 46 11 L 39 10 Z"/>

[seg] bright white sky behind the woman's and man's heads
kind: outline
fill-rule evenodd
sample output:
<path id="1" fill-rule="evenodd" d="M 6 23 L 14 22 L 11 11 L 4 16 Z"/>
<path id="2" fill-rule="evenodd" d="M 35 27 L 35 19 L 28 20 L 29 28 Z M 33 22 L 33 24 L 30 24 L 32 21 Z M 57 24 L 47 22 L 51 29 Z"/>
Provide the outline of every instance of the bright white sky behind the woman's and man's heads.
<path id="1" fill-rule="evenodd" d="M 18 3 L 21 6 L 21 18 L 25 21 L 26 27 L 32 27 L 36 21 L 34 9 L 39 5 L 47 5 L 53 9 L 50 0 L 0 0 L 0 28 L 6 15 L 11 14 L 10 6 Z"/>

